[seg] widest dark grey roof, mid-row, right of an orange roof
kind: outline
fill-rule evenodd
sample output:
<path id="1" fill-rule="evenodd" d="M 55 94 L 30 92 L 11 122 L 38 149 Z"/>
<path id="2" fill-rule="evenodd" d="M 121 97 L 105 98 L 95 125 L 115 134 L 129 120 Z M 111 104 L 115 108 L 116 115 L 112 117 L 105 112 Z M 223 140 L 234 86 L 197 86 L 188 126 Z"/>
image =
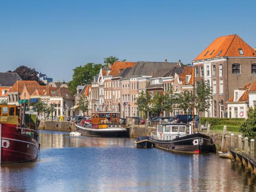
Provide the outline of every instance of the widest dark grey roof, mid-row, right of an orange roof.
<path id="1" fill-rule="evenodd" d="M 179 66 L 179 63 L 138 61 L 129 76 L 151 76 L 158 69 Z"/>

